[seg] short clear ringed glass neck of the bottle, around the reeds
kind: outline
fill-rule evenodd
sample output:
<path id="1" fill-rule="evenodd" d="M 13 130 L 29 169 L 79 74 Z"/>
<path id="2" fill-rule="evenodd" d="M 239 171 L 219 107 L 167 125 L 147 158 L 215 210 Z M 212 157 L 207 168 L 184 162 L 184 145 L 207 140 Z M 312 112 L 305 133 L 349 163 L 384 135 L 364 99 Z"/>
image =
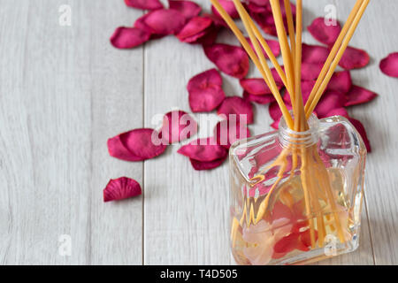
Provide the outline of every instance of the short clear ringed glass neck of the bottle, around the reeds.
<path id="1" fill-rule="evenodd" d="M 279 123 L 279 142 L 284 148 L 292 145 L 308 148 L 318 142 L 319 120 L 312 115 L 308 120 L 310 129 L 305 132 L 295 132 L 287 126 L 285 119 Z"/>

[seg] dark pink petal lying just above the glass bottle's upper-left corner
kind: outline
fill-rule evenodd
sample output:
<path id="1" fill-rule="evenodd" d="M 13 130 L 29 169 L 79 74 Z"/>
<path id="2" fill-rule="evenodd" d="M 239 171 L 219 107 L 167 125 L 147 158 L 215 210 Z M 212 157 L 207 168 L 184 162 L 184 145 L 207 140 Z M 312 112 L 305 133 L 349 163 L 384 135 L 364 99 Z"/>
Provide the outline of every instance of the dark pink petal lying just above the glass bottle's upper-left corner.
<path id="1" fill-rule="evenodd" d="M 214 137 L 219 145 L 229 149 L 234 142 L 249 138 L 250 131 L 237 121 L 222 120 L 214 127 Z"/>

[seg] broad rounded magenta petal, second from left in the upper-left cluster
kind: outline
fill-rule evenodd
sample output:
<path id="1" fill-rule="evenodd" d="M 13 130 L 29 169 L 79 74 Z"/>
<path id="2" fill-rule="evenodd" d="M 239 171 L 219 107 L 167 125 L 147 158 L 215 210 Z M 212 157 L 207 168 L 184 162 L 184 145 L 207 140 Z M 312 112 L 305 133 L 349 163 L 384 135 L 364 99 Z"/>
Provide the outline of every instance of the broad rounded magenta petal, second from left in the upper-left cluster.
<path id="1" fill-rule="evenodd" d="M 180 11 L 159 9 L 149 11 L 137 19 L 134 27 L 138 27 L 150 34 L 168 35 L 177 34 L 184 27 L 186 19 Z"/>

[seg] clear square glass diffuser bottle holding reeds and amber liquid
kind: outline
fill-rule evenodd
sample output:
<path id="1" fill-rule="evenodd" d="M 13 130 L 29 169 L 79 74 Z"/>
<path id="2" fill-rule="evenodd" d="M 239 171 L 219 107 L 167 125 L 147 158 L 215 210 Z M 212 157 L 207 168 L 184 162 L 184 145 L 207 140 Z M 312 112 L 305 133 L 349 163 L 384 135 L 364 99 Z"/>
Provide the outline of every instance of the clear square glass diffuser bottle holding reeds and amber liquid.
<path id="1" fill-rule="evenodd" d="M 366 148 L 348 119 L 309 119 L 230 150 L 237 264 L 310 264 L 358 247 Z"/>

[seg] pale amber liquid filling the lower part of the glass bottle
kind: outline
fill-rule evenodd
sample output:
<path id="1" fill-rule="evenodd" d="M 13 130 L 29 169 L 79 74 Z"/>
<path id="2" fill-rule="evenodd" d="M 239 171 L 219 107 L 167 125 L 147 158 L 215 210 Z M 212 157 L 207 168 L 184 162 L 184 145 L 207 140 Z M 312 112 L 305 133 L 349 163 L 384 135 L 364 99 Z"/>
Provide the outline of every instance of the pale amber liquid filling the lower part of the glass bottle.
<path id="1" fill-rule="evenodd" d="M 350 242 L 357 233 L 354 219 L 357 216 L 348 209 L 352 205 L 346 197 L 344 175 L 339 169 L 333 168 L 328 169 L 327 173 L 333 192 L 334 209 L 320 188 L 318 210 L 311 209 L 309 215 L 306 212 L 301 177 L 295 176 L 273 193 L 269 211 L 256 224 L 248 222 L 249 209 L 247 213 L 235 215 L 231 240 L 236 263 L 303 264 L 308 263 L 306 254 L 313 260 L 314 253 L 317 253 L 318 256 L 315 257 L 318 258 L 336 256 L 336 253 L 344 253 L 341 249 L 352 248 Z M 262 199 L 264 196 L 249 199 L 249 203 L 255 203 L 255 215 Z M 324 220 L 322 233 L 319 233 L 319 218 Z M 340 233 L 336 218 L 341 226 Z M 319 241 L 319 236 L 323 238 L 322 242 Z"/>

